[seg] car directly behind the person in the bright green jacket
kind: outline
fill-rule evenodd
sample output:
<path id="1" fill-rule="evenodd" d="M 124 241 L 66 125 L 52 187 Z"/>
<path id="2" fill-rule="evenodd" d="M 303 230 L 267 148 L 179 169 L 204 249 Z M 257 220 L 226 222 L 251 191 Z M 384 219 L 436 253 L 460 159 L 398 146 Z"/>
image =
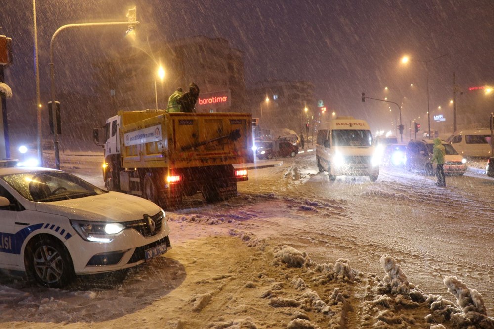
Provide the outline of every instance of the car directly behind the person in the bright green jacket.
<path id="1" fill-rule="evenodd" d="M 463 175 L 466 171 L 466 159 L 459 155 L 458 152 L 448 144 L 442 142 L 446 149 L 444 158 L 444 173 L 446 175 Z M 406 148 L 406 168 L 409 171 L 419 171 L 426 175 L 433 175 L 435 172 L 434 163 L 431 164 L 434 141 L 427 140 L 411 140 Z"/>

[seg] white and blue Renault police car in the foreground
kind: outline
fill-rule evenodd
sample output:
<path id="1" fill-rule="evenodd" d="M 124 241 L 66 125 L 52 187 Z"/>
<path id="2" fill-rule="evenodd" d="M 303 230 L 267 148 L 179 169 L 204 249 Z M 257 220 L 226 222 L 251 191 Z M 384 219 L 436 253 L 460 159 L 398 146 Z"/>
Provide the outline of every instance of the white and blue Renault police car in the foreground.
<path id="1" fill-rule="evenodd" d="M 67 172 L 0 165 L 0 268 L 60 288 L 129 268 L 171 246 L 165 212 Z"/>

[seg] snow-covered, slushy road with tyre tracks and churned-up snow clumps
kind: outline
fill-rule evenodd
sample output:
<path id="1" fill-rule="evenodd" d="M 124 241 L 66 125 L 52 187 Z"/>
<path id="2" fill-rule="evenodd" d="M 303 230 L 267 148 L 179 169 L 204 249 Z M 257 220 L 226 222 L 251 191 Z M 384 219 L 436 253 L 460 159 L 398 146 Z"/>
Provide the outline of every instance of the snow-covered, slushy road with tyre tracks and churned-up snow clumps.
<path id="1" fill-rule="evenodd" d="M 62 169 L 102 187 L 98 153 Z M 167 211 L 173 248 L 67 289 L 0 281 L 1 328 L 494 328 L 494 179 L 259 162 L 239 195 Z M 263 165 L 269 165 L 263 167 Z M 273 166 L 271 166 L 273 165 Z"/>

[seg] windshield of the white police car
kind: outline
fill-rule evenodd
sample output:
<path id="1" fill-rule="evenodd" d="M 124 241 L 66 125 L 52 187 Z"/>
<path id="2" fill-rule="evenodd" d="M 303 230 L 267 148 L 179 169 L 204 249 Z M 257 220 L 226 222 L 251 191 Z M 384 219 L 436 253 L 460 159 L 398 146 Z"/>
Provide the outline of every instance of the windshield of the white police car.
<path id="1" fill-rule="evenodd" d="M 1 179 L 27 200 L 36 202 L 77 199 L 108 192 L 60 171 L 9 174 L 3 175 Z"/>

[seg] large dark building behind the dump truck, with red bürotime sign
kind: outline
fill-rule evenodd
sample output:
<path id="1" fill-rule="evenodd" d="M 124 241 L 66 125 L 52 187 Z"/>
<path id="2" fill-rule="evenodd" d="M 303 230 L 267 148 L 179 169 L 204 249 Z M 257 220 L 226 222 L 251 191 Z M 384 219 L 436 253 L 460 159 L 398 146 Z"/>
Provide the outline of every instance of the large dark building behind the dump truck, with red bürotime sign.
<path id="1" fill-rule="evenodd" d="M 247 110 L 243 53 L 227 40 L 195 36 L 152 48 L 133 47 L 95 64 L 108 116 L 118 110 L 166 109 L 168 97 L 178 87 L 187 91 L 191 82 L 200 89 L 197 112 Z M 163 81 L 159 66 L 165 70 Z"/>

